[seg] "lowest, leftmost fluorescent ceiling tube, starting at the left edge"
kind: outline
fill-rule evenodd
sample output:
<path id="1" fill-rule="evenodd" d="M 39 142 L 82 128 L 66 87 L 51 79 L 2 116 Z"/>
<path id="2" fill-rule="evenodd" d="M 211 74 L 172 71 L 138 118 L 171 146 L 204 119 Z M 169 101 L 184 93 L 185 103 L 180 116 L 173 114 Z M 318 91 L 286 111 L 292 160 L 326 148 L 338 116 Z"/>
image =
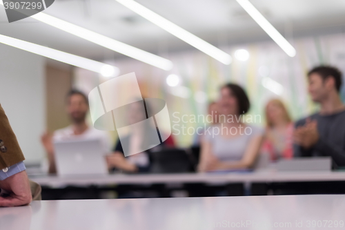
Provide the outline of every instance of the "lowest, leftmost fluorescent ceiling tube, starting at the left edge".
<path id="1" fill-rule="evenodd" d="M 80 68 L 85 68 L 86 70 L 101 73 L 101 75 L 105 77 L 115 76 L 119 74 L 119 68 L 115 66 L 110 66 L 99 61 L 87 59 L 85 57 L 71 55 L 68 52 L 62 52 L 60 50 L 55 50 L 46 46 L 39 46 L 28 41 L 15 39 L 13 37 L 0 35 L 0 43 L 19 48 L 21 50 L 26 50 L 28 52 L 33 52 L 37 55 L 55 59 L 72 66 L 77 66 Z"/>

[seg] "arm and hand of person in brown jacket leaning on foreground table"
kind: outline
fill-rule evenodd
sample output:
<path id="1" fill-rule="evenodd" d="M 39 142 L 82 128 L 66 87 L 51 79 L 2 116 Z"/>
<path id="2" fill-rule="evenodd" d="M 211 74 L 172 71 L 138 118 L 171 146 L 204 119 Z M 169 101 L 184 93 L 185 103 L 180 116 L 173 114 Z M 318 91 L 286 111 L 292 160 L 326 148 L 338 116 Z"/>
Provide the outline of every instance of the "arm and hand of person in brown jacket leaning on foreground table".
<path id="1" fill-rule="evenodd" d="M 21 206 L 32 201 L 23 160 L 17 137 L 0 105 L 0 207 Z"/>

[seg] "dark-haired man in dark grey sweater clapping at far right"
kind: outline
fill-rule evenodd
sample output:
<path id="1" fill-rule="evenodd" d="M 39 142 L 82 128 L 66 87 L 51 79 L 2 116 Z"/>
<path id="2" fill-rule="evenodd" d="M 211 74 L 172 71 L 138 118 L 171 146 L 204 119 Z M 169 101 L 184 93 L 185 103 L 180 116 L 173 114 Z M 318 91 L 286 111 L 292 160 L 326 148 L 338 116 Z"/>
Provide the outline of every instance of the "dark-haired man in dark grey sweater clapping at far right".
<path id="1" fill-rule="evenodd" d="M 330 156 L 345 166 L 345 106 L 339 96 L 342 73 L 335 67 L 318 66 L 308 73 L 308 91 L 320 111 L 296 122 L 295 155 Z"/>

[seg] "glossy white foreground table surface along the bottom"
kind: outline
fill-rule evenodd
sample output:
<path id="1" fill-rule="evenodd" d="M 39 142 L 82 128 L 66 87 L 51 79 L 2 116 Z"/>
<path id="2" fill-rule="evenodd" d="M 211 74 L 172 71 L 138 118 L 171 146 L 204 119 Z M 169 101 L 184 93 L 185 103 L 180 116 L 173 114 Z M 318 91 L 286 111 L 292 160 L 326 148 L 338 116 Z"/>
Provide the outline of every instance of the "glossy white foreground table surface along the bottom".
<path id="1" fill-rule="evenodd" d="M 1 230 L 344 229 L 335 227 L 344 221 L 345 195 L 59 200 L 0 208 Z"/>

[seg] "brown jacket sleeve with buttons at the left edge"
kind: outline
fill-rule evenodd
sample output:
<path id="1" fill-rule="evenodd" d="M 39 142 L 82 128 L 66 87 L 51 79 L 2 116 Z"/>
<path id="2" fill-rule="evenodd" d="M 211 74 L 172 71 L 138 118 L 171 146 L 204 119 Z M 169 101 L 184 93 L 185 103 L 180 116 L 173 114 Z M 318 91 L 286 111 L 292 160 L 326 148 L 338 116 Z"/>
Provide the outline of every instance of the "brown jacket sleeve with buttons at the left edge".
<path id="1" fill-rule="evenodd" d="M 0 170 L 25 160 L 17 137 L 0 104 Z"/>

